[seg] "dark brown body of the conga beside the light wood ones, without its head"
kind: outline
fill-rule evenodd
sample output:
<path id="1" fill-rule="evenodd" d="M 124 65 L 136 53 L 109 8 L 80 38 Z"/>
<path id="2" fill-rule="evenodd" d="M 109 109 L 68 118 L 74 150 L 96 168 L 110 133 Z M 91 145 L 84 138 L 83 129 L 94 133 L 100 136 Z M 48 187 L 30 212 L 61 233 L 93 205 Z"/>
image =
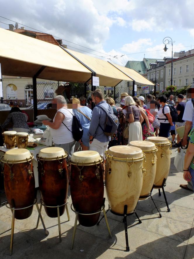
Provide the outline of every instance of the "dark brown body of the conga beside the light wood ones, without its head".
<path id="1" fill-rule="evenodd" d="M 84 151 L 80 151 L 84 152 Z M 104 183 L 103 170 L 98 164 L 100 180 L 96 177 L 98 169 L 96 165 L 84 166 L 81 174 L 83 180 L 79 180 L 80 171 L 76 165 L 71 164 L 71 198 L 73 207 L 79 213 L 95 213 L 95 215 L 78 215 L 78 221 L 82 226 L 91 227 L 97 224 L 103 205 Z"/>

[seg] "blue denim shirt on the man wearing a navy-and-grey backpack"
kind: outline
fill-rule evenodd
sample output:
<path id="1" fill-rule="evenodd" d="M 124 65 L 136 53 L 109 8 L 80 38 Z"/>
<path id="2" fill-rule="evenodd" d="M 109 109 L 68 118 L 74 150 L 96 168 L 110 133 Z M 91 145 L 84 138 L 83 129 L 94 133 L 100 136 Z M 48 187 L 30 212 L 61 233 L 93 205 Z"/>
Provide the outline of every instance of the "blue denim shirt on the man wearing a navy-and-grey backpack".
<path id="1" fill-rule="evenodd" d="M 107 119 L 107 114 L 99 107 L 99 104 L 103 106 L 108 112 L 110 111 L 110 106 L 106 101 L 99 102 L 92 111 L 92 118 L 89 127 L 89 135 L 94 136 L 100 142 L 110 141 L 110 136 L 104 134 L 101 127 L 105 128 L 105 123 Z M 112 109 L 112 108 L 111 108 Z M 101 125 L 101 127 L 99 126 Z"/>

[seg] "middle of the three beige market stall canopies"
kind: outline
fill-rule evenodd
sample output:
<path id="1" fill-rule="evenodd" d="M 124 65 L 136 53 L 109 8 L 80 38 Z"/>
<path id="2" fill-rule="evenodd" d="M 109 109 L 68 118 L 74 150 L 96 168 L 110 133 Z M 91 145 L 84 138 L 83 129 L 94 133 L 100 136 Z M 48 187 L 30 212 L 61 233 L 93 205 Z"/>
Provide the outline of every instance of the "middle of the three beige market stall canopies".
<path id="1" fill-rule="evenodd" d="M 107 61 L 75 52 L 70 49 L 67 49 L 67 51 L 96 72 L 96 76 L 99 77 L 99 83 L 101 86 L 116 86 L 122 80 L 132 81 L 127 75 L 119 71 Z"/>

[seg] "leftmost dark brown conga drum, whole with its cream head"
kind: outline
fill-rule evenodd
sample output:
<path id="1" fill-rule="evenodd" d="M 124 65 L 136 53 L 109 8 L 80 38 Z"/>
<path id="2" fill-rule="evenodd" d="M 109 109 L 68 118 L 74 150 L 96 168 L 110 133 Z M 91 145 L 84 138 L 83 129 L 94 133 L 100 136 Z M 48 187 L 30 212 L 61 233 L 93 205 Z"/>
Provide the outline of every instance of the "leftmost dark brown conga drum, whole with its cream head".
<path id="1" fill-rule="evenodd" d="M 33 155 L 27 149 L 8 150 L 1 158 L 4 163 L 5 193 L 11 208 L 19 209 L 34 203 L 35 180 L 32 167 Z M 32 214 L 33 206 L 15 210 L 16 219 L 26 219 Z"/>

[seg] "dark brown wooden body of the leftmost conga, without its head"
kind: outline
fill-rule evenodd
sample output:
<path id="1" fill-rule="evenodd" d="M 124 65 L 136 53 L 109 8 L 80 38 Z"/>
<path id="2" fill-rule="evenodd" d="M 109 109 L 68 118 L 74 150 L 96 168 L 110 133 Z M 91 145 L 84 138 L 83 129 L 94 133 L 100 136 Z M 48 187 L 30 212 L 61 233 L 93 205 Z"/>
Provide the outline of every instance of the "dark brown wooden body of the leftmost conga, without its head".
<path id="1" fill-rule="evenodd" d="M 35 180 L 34 173 L 28 174 L 28 170 L 33 172 L 31 166 L 27 163 L 13 164 L 13 179 L 10 178 L 10 168 L 4 164 L 4 186 L 5 193 L 10 207 L 16 209 L 30 206 L 34 203 Z M 16 219 L 26 219 L 32 214 L 33 206 L 24 210 L 15 210 Z"/>

